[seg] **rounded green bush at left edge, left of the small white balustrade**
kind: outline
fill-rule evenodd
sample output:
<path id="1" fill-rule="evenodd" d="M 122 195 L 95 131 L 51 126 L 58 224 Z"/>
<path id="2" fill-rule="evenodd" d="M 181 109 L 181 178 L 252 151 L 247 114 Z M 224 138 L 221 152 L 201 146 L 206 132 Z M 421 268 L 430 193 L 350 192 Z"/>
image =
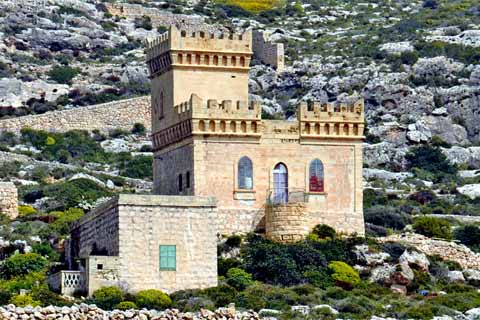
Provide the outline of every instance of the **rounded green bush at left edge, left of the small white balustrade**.
<path id="1" fill-rule="evenodd" d="M 3 279 L 11 279 L 40 271 L 46 265 L 47 260 L 37 253 L 15 254 L 0 266 L 0 275 Z"/>

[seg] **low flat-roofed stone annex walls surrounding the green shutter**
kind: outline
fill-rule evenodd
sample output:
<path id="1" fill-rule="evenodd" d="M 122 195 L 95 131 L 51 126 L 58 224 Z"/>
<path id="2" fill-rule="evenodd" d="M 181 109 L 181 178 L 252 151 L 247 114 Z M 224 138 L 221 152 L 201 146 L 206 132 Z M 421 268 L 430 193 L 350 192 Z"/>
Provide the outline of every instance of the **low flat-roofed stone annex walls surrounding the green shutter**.
<path id="1" fill-rule="evenodd" d="M 75 223 L 70 260 L 88 258 L 89 292 L 102 284 L 130 292 L 213 287 L 217 217 L 213 198 L 122 194 Z M 103 260 L 89 253 L 100 240 Z M 176 246 L 175 270 L 160 270 L 161 245 Z"/>

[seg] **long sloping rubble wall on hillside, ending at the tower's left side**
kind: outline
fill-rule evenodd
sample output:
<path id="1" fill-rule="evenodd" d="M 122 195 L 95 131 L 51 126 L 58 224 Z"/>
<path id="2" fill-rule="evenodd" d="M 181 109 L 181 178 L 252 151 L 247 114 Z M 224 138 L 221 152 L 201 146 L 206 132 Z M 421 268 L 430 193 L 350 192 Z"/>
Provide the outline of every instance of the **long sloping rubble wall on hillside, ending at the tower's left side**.
<path id="1" fill-rule="evenodd" d="M 100 130 L 115 128 L 132 129 L 135 123 L 151 127 L 150 97 L 114 101 L 88 107 L 51 111 L 0 120 L 0 131 L 19 132 L 29 127 L 37 130 L 65 132 L 69 130 Z"/>

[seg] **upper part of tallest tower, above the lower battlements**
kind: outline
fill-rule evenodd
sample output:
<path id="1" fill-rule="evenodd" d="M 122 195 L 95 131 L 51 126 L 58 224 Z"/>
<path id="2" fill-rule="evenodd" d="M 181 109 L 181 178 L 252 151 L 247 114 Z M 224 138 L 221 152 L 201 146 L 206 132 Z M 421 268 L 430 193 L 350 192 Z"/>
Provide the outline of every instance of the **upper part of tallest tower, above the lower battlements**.
<path id="1" fill-rule="evenodd" d="M 192 94 L 217 101 L 248 101 L 252 33 L 209 34 L 170 27 L 147 44 L 152 86 L 152 130 L 172 124 L 174 106 Z"/>

